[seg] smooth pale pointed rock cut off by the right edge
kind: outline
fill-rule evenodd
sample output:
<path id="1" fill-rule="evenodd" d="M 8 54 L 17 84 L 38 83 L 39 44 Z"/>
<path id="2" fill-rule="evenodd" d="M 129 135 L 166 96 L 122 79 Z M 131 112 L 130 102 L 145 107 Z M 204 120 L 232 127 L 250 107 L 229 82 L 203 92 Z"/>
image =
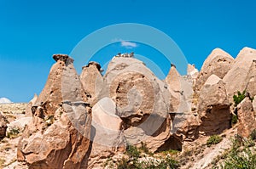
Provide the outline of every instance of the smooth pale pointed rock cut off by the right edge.
<path id="1" fill-rule="evenodd" d="M 230 103 L 233 101 L 233 95 L 237 91 L 242 92 L 246 88 L 246 79 L 253 59 L 256 59 L 256 50 L 253 48 L 242 48 L 235 59 L 234 65 L 232 65 L 227 75 L 224 76 L 223 80 L 226 84 Z"/>

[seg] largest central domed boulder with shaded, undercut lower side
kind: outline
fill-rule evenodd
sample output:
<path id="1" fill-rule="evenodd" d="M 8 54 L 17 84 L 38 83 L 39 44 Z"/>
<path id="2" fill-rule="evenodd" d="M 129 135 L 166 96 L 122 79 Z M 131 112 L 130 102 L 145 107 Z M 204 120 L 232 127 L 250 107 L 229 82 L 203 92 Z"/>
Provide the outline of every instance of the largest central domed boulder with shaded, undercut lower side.
<path id="1" fill-rule="evenodd" d="M 151 70 L 134 58 L 114 57 L 104 76 L 128 144 L 147 142 L 156 151 L 170 138 L 169 92 Z M 150 144 L 149 144 L 150 140 Z"/>

